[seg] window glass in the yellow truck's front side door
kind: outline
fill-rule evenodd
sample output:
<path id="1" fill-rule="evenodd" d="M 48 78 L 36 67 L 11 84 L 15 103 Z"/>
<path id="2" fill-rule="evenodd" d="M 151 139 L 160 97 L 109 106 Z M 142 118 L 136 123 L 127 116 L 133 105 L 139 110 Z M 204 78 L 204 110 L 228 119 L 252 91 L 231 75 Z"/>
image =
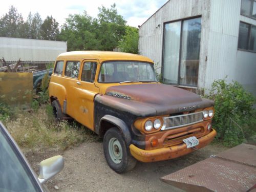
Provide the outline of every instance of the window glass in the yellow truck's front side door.
<path id="1" fill-rule="evenodd" d="M 94 82 L 97 62 L 84 62 L 82 69 L 82 81 Z"/>

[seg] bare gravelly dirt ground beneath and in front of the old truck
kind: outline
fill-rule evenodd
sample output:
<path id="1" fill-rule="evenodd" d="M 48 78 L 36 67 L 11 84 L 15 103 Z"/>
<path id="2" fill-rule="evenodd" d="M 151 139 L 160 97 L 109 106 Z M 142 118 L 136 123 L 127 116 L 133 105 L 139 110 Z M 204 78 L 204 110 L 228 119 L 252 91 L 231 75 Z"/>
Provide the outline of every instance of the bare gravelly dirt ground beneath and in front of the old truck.
<path id="1" fill-rule="evenodd" d="M 50 191 L 181 191 L 159 178 L 224 150 L 223 147 L 209 145 L 174 160 L 138 162 L 132 172 L 121 175 L 106 163 L 101 142 L 83 143 L 62 153 L 28 153 L 26 156 L 36 172 L 36 165 L 42 159 L 59 154 L 65 158 L 65 168 L 47 184 Z"/>

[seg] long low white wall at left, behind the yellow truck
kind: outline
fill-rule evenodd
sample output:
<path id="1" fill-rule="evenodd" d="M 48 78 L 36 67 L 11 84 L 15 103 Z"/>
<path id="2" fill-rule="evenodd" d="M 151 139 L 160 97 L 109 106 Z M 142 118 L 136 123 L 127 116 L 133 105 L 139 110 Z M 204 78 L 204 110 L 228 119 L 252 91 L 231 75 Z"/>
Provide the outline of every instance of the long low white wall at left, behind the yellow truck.
<path id="1" fill-rule="evenodd" d="M 6 61 L 54 61 L 67 52 L 67 42 L 0 37 L 0 58 Z"/>

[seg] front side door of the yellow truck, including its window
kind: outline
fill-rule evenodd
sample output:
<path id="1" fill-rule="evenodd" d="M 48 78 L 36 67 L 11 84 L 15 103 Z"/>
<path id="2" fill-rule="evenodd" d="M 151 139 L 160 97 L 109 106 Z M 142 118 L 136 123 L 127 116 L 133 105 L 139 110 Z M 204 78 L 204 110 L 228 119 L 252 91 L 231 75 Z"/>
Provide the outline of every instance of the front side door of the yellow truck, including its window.
<path id="1" fill-rule="evenodd" d="M 95 86 L 97 66 L 98 60 L 83 60 L 75 93 L 76 120 L 91 130 L 94 130 L 94 97 L 99 93 L 99 88 Z"/>

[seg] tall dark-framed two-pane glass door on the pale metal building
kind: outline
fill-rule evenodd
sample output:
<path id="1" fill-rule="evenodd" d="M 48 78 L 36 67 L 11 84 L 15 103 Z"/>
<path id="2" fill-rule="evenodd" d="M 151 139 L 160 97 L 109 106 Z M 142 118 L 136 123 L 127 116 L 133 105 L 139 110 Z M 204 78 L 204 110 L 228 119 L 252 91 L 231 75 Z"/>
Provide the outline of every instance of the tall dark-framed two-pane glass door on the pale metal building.
<path id="1" fill-rule="evenodd" d="M 197 87 L 201 17 L 164 25 L 163 81 Z"/>

